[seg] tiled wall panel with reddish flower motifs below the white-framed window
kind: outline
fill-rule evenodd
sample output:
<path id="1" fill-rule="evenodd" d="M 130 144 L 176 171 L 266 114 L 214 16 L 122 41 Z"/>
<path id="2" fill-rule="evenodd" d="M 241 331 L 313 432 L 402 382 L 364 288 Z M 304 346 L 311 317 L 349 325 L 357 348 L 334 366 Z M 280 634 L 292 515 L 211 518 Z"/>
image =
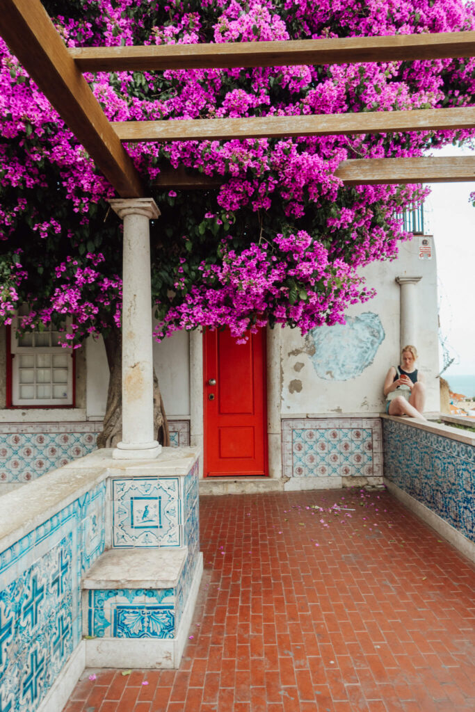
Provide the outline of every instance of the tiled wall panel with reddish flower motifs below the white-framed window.
<path id="1" fill-rule="evenodd" d="M 98 422 L 1 423 L 0 483 L 29 482 L 95 450 Z M 189 421 L 169 421 L 170 445 L 189 445 Z"/>

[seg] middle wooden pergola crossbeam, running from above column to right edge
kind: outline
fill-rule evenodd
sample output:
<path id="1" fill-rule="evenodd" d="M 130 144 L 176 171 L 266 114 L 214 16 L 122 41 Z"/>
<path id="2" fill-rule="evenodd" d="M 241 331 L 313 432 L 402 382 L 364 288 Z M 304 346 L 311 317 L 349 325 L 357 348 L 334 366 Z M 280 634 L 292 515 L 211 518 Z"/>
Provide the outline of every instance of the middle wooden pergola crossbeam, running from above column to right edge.
<path id="1" fill-rule="evenodd" d="M 113 121 L 111 125 L 121 141 L 229 140 L 441 131 L 474 128 L 475 107 L 246 119 Z"/>

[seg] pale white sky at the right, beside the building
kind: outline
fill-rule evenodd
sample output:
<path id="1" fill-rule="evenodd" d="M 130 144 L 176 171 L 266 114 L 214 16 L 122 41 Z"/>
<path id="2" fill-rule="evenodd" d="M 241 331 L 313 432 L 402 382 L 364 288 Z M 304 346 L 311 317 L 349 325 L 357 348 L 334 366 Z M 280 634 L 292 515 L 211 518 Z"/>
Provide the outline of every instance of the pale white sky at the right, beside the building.
<path id="1" fill-rule="evenodd" d="M 447 146 L 433 155 L 475 156 L 475 150 Z M 455 358 L 444 375 L 475 375 L 475 208 L 469 203 L 475 182 L 434 183 L 431 188 L 424 231 L 434 235 L 441 333 Z"/>

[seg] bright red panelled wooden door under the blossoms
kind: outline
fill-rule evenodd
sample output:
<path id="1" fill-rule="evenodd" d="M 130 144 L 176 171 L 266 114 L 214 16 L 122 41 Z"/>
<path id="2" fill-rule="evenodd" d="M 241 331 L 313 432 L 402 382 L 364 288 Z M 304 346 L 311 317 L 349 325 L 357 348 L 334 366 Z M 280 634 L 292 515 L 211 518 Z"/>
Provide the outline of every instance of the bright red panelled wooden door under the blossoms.
<path id="1" fill-rule="evenodd" d="M 265 330 L 204 333 L 204 476 L 266 475 Z"/>

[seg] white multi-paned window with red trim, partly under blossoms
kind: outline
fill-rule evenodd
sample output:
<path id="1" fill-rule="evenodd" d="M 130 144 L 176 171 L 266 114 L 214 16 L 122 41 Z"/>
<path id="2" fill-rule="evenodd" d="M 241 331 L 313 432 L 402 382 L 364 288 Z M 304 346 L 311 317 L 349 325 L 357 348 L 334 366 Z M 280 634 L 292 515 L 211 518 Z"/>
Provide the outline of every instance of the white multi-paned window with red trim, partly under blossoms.
<path id="1" fill-rule="evenodd" d="M 14 406 L 73 405 L 73 353 L 58 343 L 52 324 L 45 330 L 16 336 L 21 308 L 11 328 L 11 404 Z"/>

